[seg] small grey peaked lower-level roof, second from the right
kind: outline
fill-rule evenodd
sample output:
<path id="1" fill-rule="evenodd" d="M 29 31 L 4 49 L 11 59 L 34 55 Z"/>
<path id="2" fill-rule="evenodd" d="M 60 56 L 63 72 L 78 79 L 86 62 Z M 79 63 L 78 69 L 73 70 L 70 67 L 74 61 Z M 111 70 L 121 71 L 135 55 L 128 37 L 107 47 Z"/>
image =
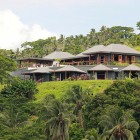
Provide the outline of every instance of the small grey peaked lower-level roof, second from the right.
<path id="1" fill-rule="evenodd" d="M 103 64 L 99 64 L 99 65 L 89 69 L 89 71 L 112 71 L 112 69 L 110 69 L 107 66 L 104 66 Z"/>

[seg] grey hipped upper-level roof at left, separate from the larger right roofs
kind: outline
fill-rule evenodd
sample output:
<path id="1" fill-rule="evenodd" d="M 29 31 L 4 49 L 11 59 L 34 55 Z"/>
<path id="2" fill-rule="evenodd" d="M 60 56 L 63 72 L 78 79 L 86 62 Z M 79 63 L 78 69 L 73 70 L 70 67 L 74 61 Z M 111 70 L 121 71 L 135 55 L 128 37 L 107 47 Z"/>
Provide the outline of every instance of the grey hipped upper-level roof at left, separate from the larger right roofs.
<path id="1" fill-rule="evenodd" d="M 45 59 L 65 59 L 65 58 L 72 58 L 74 55 L 68 53 L 68 52 L 61 52 L 61 51 L 55 51 L 43 58 Z"/>

